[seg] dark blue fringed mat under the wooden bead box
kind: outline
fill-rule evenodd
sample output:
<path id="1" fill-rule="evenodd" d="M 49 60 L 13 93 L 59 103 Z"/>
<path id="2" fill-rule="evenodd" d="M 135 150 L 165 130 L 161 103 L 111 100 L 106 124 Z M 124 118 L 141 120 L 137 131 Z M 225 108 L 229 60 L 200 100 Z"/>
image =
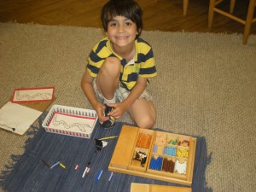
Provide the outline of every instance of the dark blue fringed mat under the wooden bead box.
<path id="1" fill-rule="evenodd" d="M 180 186 L 145 177 L 136 177 L 114 173 L 108 181 L 111 172 L 108 164 L 113 154 L 117 139 L 108 140 L 108 145 L 95 154 L 95 138 L 119 135 L 124 123 L 117 122 L 113 129 L 104 130 L 96 124 L 90 139 L 62 136 L 48 133 L 42 128 L 45 113 L 38 119 L 39 129 L 35 136 L 26 143 L 26 151 L 21 157 L 16 157 L 15 166 L 9 167 L 9 172 L 2 172 L 1 185 L 9 192 L 128 192 L 131 183 L 151 183 Z M 160 129 L 155 129 L 161 131 Z M 195 136 L 194 136 L 195 137 Z M 212 191 L 207 189 L 205 171 L 210 158 L 207 158 L 205 137 L 196 137 L 195 168 L 192 190 L 195 192 Z M 15 156 L 13 156 L 15 157 Z M 15 158 L 14 158 L 15 159 Z M 45 160 L 51 166 L 57 161 L 66 166 L 55 166 L 53 169 L 45 166 Z M 84 168 L 90 161 L 90 173 L 82 177 Z M 75 170 L 75 166 L 79 169 Z M 97 173 L 103 170 L 102 177 L 96 182 Z"/>

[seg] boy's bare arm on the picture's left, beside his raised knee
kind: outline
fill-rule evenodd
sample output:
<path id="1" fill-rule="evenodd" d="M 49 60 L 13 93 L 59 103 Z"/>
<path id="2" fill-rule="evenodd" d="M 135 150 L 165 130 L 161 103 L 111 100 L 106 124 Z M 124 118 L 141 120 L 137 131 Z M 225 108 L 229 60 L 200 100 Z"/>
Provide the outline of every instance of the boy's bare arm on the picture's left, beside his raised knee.
<path id="1" fill-rule="evenodd" d="M 102 110 L 105 108 L 104 105 L 102 105 L 101 102 L 98 102 L 96 99 L 96 94 L 92 86 L 94 78 L 90 76 L 90 74 L 87 72 L 84 73 L 83 78 L 81 80 L 81 86 L 84 90 L 84 94 L 87 97 L 88 101 L 90 102 L 91 106 L 96 110 L 96 113 L 98 114 L 98 118 L 101 121 L 105 121 L 108 118 L 104 117 L 102 115 Z"/>

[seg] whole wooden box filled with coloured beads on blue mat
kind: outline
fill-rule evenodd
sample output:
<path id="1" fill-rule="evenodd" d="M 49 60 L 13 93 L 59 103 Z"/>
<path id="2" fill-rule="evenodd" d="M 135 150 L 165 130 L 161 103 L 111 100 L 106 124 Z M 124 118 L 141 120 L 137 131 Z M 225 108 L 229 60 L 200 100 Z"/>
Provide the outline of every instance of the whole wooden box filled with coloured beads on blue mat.
<path id="1" fill-rule="evenodd" d="M 108 170 L 191 186 L 196 138 L 123 125 Z"/>

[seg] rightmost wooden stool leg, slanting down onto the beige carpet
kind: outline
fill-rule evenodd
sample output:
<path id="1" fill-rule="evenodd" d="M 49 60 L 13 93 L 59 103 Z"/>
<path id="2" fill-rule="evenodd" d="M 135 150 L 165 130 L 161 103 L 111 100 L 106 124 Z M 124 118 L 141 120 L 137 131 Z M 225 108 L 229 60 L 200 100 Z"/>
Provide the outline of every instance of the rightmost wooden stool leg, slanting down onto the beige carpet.
<path id="1" fill-rule="evenodd" d="M 247 44 L 247 40 L 248 40 L 251 26 L 252 26 L 255 3 L 256 3 L 256 0 L 250 0 L 248 11 L 247 11 L 247 20 L 246 20 L 246 24 L 243 32 L 242 44 Z"/>

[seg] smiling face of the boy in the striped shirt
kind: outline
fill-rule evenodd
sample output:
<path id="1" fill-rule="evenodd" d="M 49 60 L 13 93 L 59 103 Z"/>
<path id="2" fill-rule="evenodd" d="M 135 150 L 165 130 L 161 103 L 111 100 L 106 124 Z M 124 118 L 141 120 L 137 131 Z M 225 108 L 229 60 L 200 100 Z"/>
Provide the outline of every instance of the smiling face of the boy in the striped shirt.
<path id="1" fill-rule="evenodd" d="M 115 16 L 112 20 L 108 20 L 108 32 L 106 34 L 114 48 L 125 48 L 134 44 L 138 34 L 137 25 L 124 16 Z"/>

